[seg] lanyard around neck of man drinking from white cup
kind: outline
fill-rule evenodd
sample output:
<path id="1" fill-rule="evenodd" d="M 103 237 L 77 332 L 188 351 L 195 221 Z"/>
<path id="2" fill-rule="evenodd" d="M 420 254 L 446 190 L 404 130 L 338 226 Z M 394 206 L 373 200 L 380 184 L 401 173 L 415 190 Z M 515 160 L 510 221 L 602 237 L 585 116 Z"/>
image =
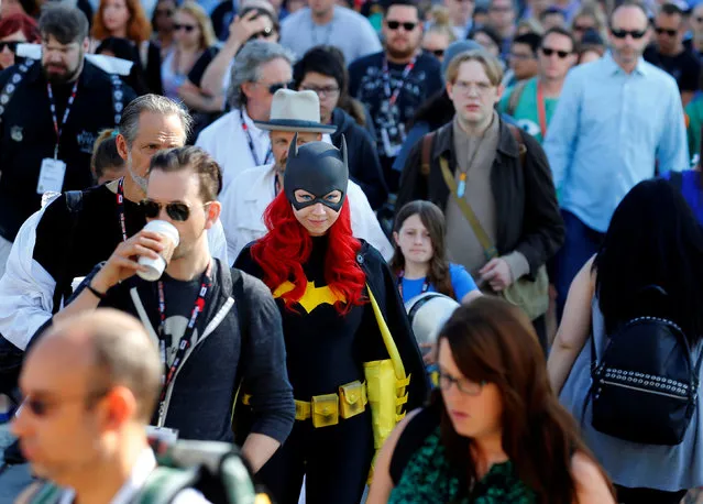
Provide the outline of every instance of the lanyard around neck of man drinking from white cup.
<path id="1" fill-rule="evenodd" d="M 188 326 L 186 327 L 183 337 L 180 338 L 180 342 L 178 343 L 178 350 L 176 351 L 176 357 L 174 358 L 173 363 L 168 366 L 168 359 L 166 357 L 166 336 L 164 335 L 164 327 L 166 325 L 166 298 L 164 296 L 164 283 L 158 281 L 158 350 L 161 353 L 161 360 L 164 365 L 164 375 L 162 376 L 162 392 L 161 397 L 158 399 L 158 416 L 160 419 L 164 415 L 164 406 L 166 402 L 166 391 L 168 386 L 173 383 L 176 377 L 176 371 L 183 364 L 186 352 L 190 348 L 190 338 L 193 337 L 193 331 L 195 330 L 196 321 L 198 320 L 198 315 L 200 315 L 205 310 L 205 298 L 208 294 L 209 288 L 212 286 L 212 281 L 210 278 L 210 272 L 212 269 L 212 263 L 208 264 L 205 273 L 202 273 L 202 281 L 200 283 L 200 289 L 198 292 L 198 297 L 196 298 L 195 305 L 193 306 L 193 311 L 190 313 L 190 320 L 188 321 Z"/>

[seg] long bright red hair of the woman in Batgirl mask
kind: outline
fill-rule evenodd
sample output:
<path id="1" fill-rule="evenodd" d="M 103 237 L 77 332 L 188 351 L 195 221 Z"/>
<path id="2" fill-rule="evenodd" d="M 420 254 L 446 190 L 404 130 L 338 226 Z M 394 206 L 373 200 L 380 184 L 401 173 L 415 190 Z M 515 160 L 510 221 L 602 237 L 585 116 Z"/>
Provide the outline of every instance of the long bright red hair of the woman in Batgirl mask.
<path id="1" fill-rule="evenodd" d="M 366 275 L 356 263 L 361 243 L 351 230 L 349 200 L 344 200 L 337 222 L 329 229 L 328 250 L 325 258 L 325 280 L 334 294 L 343 296 L 347 303 L 337 302 L 334 308 L 341 315 L 352 306 L 362 305 Z M 264 270 L 264 283 L 271 292 L 289 281 L 294 289 L 281 296 L 286 308 L 300 300 L 307 287 L 303 264 L 312 251 L 312 238 L 298 222 L 285 193 L 268 205 L 264 212 L 264 223 L 268 233 L 251 248 L 252 258 Z"/>

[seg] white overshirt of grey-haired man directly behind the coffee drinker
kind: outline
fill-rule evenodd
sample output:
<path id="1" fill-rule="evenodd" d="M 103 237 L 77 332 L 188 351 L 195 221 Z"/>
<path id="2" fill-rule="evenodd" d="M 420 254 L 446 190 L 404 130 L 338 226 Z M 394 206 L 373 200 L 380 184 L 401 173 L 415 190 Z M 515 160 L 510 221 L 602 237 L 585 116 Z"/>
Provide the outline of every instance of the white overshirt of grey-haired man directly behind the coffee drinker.
<path id="1" fill-rule="evenodd" d="M 21 350 L 26 348 L 36 330 L 52 318 L 54 308 L 56 281 L 34 260 L 36 227 L 45 208 L 30 216 L 20 228 L 4 275 L 0 278 L 0 335 Z M 216 222 L 206 232 L 212 256 L 229 265 L 221 222 Z"/>

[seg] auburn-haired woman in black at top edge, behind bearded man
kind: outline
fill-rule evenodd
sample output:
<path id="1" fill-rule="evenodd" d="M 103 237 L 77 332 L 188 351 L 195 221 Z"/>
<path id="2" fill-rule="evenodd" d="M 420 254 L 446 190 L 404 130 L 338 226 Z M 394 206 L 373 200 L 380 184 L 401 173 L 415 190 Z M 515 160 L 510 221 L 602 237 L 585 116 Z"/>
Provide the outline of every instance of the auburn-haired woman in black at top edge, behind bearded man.
<path id="1" fill-rule="evenodd" d="M 151 24 L 139 0 L 100 0 L 90 31 L 91 51 L 110 36 L 127 39 L 139 52 L 150 91 L 161 95 L 161 52 L 151 35 Z"/>

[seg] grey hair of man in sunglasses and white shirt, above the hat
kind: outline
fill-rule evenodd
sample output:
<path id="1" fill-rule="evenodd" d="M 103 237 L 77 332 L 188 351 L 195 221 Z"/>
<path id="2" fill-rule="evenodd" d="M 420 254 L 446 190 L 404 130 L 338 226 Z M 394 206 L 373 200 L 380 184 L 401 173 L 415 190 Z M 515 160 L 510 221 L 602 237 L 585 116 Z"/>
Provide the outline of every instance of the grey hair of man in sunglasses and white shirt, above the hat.
<path id="1" fill-rule="evenodd" d="M 290 66 L 295 59 L 290 51 L 274 42 L 251 41 L 242 47 L 234 57 L 232 78 L 227 90 L 227 100 L 233 109 L 246 103 L 242 85 L 257 81 L 261 78 L 261 66 L 278 58 L 285 59 Z"/>

